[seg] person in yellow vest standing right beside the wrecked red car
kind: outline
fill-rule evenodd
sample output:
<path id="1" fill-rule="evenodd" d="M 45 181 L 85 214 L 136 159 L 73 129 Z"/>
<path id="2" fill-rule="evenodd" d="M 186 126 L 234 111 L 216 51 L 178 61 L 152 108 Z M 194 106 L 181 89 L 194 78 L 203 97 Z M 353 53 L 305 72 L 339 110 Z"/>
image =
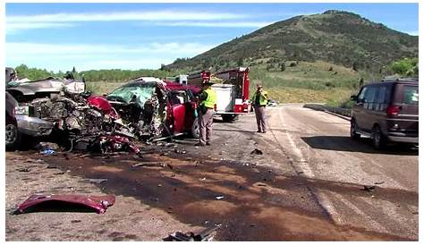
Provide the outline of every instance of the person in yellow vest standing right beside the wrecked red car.
<path id="1" fill-rule="evenodd" d="M 210 145 L 216 103 L 216 92 L 212 89 L 213 84 L 212 82 L 203 83 L 203 89 L 199 97 L 199 143 L 195 146 L 204 147 Z"/>

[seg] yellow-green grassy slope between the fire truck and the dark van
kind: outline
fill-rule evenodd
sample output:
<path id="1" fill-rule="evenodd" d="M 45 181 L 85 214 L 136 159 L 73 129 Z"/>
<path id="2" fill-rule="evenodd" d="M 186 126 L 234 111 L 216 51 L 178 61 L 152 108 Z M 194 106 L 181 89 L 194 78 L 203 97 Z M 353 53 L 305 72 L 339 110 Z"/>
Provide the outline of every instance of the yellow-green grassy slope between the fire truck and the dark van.
<path id="1" fill-rule="evenodd" d="M 269 97 L 280 103 L 325 103 L 329 106 L 350 106 L 352 94 L 363 74 L 325 62 L 285 62 L 285 71 L 267 71 L 267 63 L 250 68 L 250 91 L 262 84 Z"/>

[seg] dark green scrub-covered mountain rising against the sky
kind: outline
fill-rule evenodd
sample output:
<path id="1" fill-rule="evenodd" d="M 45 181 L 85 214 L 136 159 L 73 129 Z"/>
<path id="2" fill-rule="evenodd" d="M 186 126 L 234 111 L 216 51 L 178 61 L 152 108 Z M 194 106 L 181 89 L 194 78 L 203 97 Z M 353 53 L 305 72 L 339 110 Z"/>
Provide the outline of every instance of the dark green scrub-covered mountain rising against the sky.
<path id="1" fill-rule="evenodd" d="M 219 69 L 272 58 L 273 62 L 325 61 L 378 72 L 394 60 L 418 56 L 418 40 L 358 14 L 329 10 L 278 21 L 165 68 Z"/>

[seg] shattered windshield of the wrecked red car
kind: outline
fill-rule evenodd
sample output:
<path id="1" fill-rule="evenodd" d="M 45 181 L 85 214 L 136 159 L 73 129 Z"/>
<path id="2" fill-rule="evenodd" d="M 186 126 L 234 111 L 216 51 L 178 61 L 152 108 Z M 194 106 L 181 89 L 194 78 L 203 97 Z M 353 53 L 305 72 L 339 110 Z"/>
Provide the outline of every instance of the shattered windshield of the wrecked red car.
<path id="1" fill-rule="evenodd" d="M 107 96 L 108 100 L 120 101 L 124 103 L 135 102 L 143 107 L 144 103 L 153 96 L 156 86 L 154 83 L 133 84 L 115 89 Z"/>

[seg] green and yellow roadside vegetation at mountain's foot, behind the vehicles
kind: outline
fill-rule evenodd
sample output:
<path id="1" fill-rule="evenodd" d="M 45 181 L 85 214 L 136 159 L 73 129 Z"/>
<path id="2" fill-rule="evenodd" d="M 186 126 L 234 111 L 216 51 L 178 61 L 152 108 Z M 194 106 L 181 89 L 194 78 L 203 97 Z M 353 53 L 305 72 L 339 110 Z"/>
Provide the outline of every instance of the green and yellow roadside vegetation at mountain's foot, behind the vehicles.
<path id="1" fill-rule="evenodd" d="M 285 61 L 276 62 L 273 58 L 259 59 L 250 64 L 250 96 L 257 84 L 262 84 L 269 97 L 280 103 L 324 103 L 328 106 L 352 107 L 350 97 L 358 92 L 361 85 L 382 80 L 385 76 L 418 77 L 418 58 L 403 58 L 387 66 L 386 71 L 370 73 L 355 71 L 352 68 L 327 63 Z M 242 63 L 242 65 L 249 65 Z M 63 77 L 65 72 L 48 72 L 46 69 L 29 68 L 21 64 L 15 68 L 20 78 L 39 80 L 47 77 Z M 72 71 L 75 78 L 82 76 L 87 88 L 95 94 L 103 95 L 123 85 L 127 80 L 140 76 L 159 78 L 174 77 L 183 70 L 91 70 Z"/>

